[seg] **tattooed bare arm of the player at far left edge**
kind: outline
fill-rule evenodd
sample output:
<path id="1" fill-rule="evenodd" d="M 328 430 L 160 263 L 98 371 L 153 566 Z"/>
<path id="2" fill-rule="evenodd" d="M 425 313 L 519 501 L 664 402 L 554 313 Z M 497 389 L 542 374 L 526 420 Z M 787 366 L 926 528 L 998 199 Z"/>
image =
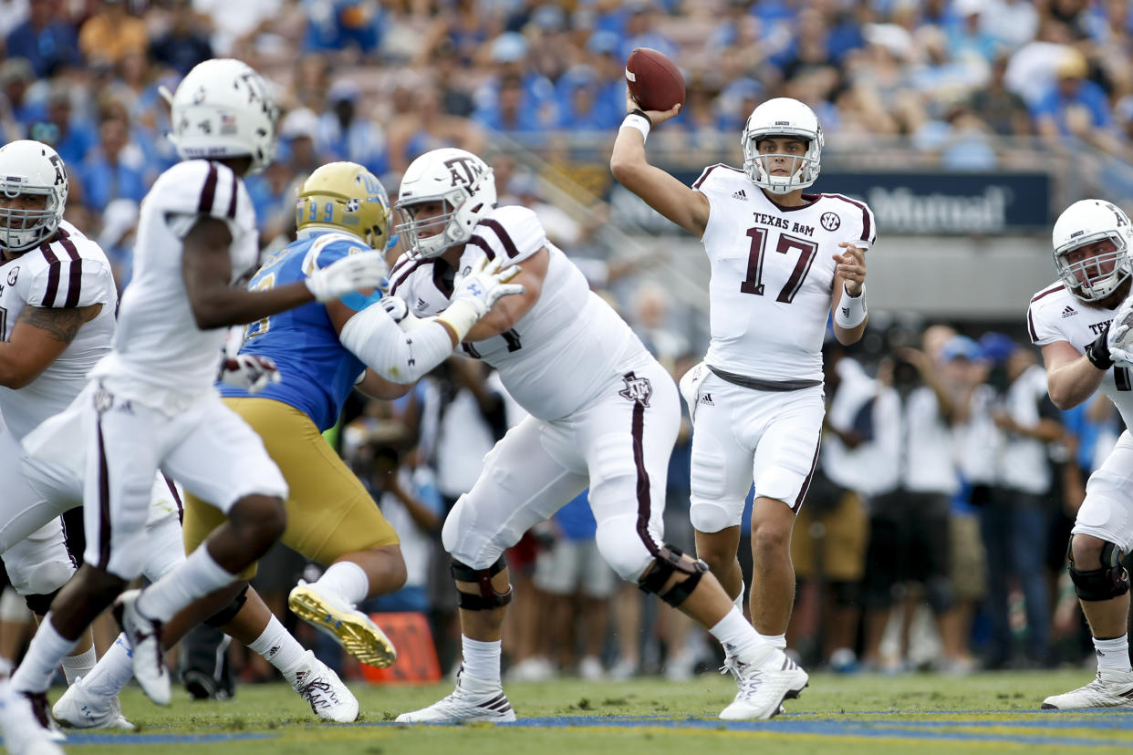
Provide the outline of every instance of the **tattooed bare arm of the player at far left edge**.
<path id="1" fill-rule="evenodd" d="M 102 311 L 101 303 L 85 307 L 24 307 L 8 341 L 0 342 L 0 385 L 23 388 L 51 367 L 78 329 Z"/>

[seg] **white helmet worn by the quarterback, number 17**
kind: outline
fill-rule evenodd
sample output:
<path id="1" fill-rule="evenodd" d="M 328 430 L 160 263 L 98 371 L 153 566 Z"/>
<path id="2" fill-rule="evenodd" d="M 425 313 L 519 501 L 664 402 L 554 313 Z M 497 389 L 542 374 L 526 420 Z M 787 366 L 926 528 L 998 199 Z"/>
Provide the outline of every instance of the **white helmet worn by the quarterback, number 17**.
<path id="1" fill-rule="evenodd" d="M 787 175 L 770 175 L 764 169 L 764 157 L 759 154 L 759 141 L 773 136 L 794 136 L 807 141 L 807 152 L 801 156 L 784 155 L 794 161 Z M 743 172 L 751 181 L 772 194 L 790 194 L 804 189 L 818 178 L 823 158 L 823 127 L 815 111 L 790 97 L 768 100 L 751 111 L 743 127 L 740 144 L 743 146 Z"/>

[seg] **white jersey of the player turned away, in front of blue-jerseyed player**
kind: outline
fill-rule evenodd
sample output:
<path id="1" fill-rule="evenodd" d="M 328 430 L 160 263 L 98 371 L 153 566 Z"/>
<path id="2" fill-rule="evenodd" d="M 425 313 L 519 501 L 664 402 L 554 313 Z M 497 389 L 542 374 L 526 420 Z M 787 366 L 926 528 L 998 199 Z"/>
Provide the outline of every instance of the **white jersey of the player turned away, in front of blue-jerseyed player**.
<path id="1" fill-rule="evenodd" d="M 198 217 L 224 222 L 236 283 L 258 259 L 256 213 L 244 181 L 220 163 L 191 160 L 157 178 L 142 201 L 134 277 L 122 294 L 113 351 L 95 368 L 112 392 L 171 411 L 211 394 L 227 328 L 202 331 L 181 274 L 184 238 Z"/>

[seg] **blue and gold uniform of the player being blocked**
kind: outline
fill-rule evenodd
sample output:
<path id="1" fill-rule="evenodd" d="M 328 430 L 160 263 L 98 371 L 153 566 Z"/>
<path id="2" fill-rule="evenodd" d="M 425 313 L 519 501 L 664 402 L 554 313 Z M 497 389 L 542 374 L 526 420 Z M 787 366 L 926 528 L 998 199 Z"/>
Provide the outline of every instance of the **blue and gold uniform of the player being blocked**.
<path id="1" fill-rule="evenodd" d="M 373 181 L 376 183 L 376 179 Z M 389 201 L 381 185 L 376 191 L 364 194 L 384 203 L 376 203 L 384 208 L 380 225 L 366 223 L 365 201 L 359 208 L 357 199 L 305 203 L 300 197 L 297 214 L 301 238 L 264 263 L 248 288 L 263 290 L 303 281 L 316 267 L 326 267 L 350 254 L 380 254 L 370 247 L 385 246 L 382 237 Z M 356 216 L 361 222 L 351 222 Z M 351 297 L 353 300 L 348 297 L 342 301 L 352 309 L 368 303 L 361 294 Z M 259 435 L 287 479 L 290 495 L 282 542 L 320 564 L 331 564 L 344 554 L 397 546 L 397 532 L 322 436 L 338 421 L 343 402 L 366 369 L 340 343 L 326 307 L 315 301 L 272 315 L 250 323 L 244 335 L 240 352 L 273 359 L 281 380 L 256 394 L 227 384 L 219 384 L 219 388 L 224 403 Z M 218 509 L 189 496 L 185 509 L 186 552 L 223 522 Z"/>

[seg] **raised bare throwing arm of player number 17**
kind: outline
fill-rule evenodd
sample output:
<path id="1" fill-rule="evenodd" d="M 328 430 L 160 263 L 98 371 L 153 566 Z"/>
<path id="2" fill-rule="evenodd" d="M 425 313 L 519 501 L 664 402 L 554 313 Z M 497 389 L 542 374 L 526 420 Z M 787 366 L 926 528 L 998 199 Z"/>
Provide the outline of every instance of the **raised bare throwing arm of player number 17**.
<path id="1" fill-rule="evenodd" d="M 634 115 L 637 102 L 625 93 L 625 111 L 630 113 L 617 130 L 614 149 L 610 155 L 610 172 L 627 189 L 641 197 L 647 205 L 697 237 L 704 235 L 708 225 L 708 197 L 684 186 L 667 172 L 650 165 L 645 156 L 645 139 L 651 128 L 680 112 L 674 105 L 664 112 L 645 111 Z"/>

